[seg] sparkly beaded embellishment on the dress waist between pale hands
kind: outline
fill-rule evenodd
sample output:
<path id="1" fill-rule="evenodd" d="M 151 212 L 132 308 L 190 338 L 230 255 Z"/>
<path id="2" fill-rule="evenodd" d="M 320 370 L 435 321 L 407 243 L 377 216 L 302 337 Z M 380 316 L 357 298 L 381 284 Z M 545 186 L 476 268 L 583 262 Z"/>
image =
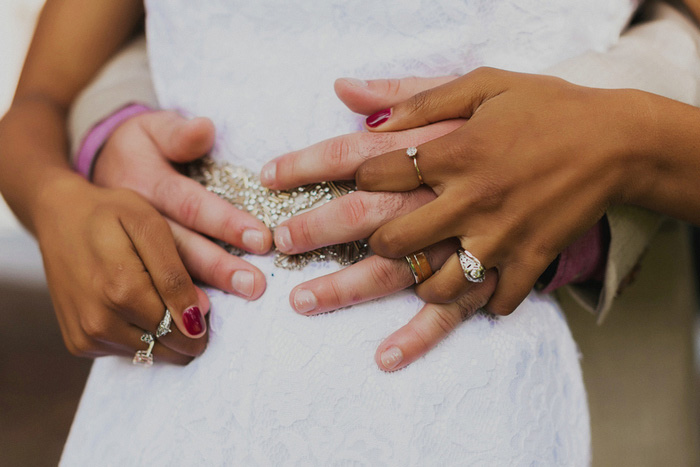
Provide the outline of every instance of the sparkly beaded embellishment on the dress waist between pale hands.
<path id="1" fill-rule="evenodd" d="M 209 157 L 187 164 L 185 172 L 207 190 L 260 219 L 273 231 L 295 214 L 321 206 L 356 190 L 352 182 L 321 182 L 291 190 L 270 190 L 262 186 L 260 178 L 245 167 L 215 162 Z M 240 256 L 245 253 L 227 243 L 217 243 L 231 254 Z M 277 251 L 275 266 L 301 269 L 310 262 L 328 260 L 346 266 L 365 258 L 368 251 L 366 239 L 330 245 L 295 255 Z"/>

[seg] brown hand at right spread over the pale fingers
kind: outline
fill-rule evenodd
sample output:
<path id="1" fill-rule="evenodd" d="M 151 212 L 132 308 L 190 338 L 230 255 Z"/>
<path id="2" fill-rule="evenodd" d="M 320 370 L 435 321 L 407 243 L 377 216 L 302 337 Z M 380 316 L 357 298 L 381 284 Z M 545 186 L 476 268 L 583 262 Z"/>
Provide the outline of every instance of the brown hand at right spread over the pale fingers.
<path id="1" fill-rule="evenodd" d="M 380 227 L 370 246 L 399 258 L 457 237 L 498 287 L 486 309 L 512 312 L 556 255 L 624 201 L 617 162 L 633 147 L 625 91 L 575 86 L 557 78 L 482 68 L 419 93 L 384 113 L 372 131 L 398 131 L 468 119 L 418 146 L 416 162 L 437 198 Z M 618 105 L 620 104 L 620 105 Z M 371 120 L 368 119 L 368 121 Z M 404 148 L 368 159 L 358 188 L 403 192 L 419 186 Z M 417 287 L 428 302 L 462 296 L 468 282 L 456 254 Z"/>

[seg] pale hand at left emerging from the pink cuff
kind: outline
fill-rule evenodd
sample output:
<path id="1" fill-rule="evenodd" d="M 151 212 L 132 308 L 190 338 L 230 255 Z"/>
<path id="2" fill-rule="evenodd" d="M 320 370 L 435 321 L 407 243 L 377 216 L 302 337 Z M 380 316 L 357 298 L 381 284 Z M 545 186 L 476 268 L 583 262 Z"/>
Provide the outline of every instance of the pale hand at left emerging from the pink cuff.
<path id="1" fill-rule="evenodd" d="M 248 213 L 178 173 L 171 165 L 197 159 L 211 149 L 214 127 L 206 118 L 187 120 L 176 112 L 137 115 L 110 136 L 93 171 L 94 182 L 130 188 L 169 218 L 178 251 L 193 277 L 255 300 L 265 276 L 204 235 L 252 253 L 270 249 L 272 234 Z"/>

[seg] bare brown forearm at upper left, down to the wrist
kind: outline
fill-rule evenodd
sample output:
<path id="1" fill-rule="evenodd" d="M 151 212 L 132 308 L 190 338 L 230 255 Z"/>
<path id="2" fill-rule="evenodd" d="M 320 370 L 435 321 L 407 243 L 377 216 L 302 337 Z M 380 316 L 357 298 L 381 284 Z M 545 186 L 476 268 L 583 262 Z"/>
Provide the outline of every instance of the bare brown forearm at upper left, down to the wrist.
<path id="1" fill-rule="evenodd" d="M 0 191 L 33 233 L 39 205 L 58 196 L 43 194 L 81 186 L 67 163 L 67 108 L 141 16 L 136 0 L 49 1 L 42 11 L 14 101 L 0 121 Z"/>

